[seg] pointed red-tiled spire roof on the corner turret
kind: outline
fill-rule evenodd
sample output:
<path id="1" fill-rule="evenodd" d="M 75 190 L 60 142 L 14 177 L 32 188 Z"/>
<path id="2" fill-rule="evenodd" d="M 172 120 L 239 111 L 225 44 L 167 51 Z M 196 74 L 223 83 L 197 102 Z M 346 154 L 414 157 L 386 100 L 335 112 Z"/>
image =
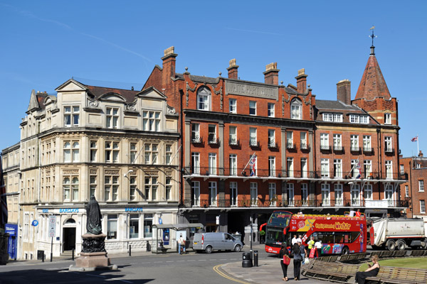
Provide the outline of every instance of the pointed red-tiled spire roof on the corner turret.
<path id="1" fill-rule="evenodd" d="M 374 48 L 374 45 L 372 45 L 371 55 L 369 55 L 367 67 L 365 67 L 363 72 L 355 99 L 372 100 L 375 97 L 391 98 L 386 80 L 384 80 L 381 69 L 376 61 Z"/>

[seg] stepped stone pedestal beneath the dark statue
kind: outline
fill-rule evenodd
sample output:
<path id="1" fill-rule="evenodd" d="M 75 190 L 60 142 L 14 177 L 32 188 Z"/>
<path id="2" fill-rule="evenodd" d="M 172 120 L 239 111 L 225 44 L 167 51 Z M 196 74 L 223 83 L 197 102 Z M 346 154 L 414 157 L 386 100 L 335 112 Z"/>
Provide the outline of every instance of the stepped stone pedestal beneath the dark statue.
<path id="1" fill-rule="evenodd" d="M 105 234 L 84 234 L 80 257 L 75 260 L 75 266 L 70 266 L 69 271 L 116 270 L 117 266 L 111 265 L 105 251 L 106 236 Z"/>

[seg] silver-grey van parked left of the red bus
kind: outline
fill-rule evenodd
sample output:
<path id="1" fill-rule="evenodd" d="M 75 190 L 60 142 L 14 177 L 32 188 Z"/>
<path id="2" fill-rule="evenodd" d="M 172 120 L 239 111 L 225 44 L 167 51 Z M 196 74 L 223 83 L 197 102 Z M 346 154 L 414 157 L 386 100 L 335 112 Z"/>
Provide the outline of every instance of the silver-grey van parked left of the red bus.
<path id="1" fill-rule="evenodd" d="M 193 249 L 196 252 L 213 250 L 241 251 L 243 244 L 227 233 L 196 233 L 193 239 Z"/>

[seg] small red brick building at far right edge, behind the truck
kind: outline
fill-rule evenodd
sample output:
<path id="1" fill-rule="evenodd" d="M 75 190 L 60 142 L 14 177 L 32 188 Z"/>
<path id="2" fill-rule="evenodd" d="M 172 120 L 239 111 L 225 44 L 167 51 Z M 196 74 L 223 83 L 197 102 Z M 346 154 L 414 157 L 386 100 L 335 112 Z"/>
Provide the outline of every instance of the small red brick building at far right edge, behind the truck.
<path id="1" fill-rule="evenodd" d="M 421 217 L 427 221 L 426 201 L 427 193 L 424 183 L 427 182 L 427 158 L 420 151 L 418 156 L 400 158 L 401 173 L 408 174 L 407 182 L 400 187 L 401 197 L 410 200 L 406 215 L 408 217 Z"/>

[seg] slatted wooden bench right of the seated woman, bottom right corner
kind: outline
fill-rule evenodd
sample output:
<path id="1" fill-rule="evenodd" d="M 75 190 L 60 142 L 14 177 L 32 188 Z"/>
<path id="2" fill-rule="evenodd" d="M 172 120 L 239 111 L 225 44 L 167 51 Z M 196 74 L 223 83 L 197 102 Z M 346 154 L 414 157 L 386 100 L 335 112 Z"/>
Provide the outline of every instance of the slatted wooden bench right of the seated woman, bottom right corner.
<path id="1" fill-rule="evenodd" d="M 378 275 L 375 277 L 368 277 L 367 283 L 426 284 L 427 269 L 381 266 Z"/>

